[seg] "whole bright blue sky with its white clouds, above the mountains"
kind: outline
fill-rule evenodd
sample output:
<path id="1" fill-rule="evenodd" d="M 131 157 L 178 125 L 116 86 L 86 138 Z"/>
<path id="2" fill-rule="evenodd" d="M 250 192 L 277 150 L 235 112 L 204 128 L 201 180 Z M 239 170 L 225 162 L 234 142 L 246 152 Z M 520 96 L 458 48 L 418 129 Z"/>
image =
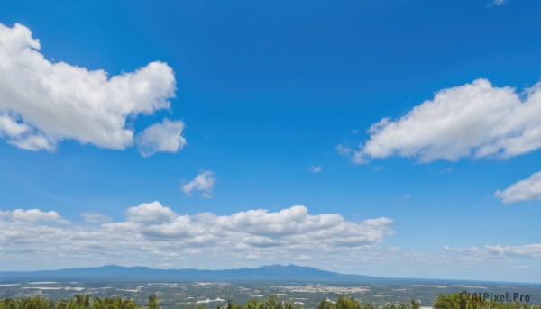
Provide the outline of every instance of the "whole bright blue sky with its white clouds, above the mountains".
<path id="1" fill-rule="evenodd" d="M 3 1 L 0 270 L 541 282 L 541 3 Z"/>

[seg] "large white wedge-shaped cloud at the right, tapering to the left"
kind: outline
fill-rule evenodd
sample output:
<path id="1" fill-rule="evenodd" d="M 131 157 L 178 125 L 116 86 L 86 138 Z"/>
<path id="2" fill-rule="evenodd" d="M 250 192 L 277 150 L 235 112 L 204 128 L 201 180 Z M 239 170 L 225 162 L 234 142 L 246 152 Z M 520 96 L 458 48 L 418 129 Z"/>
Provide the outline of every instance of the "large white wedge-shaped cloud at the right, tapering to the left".
<path id="1" fill-rule="evenodd" d="M 353 162 L 401 156 L 436 159 L 509 158 L 541 148 L 541 82 L 519 95 L 486 79 L 440 90 L 398 120 L 384 118 Z M 344 150 L 342 150 L 344 152 Z M 347 154 L 347 151 L 344 153 Z"/>

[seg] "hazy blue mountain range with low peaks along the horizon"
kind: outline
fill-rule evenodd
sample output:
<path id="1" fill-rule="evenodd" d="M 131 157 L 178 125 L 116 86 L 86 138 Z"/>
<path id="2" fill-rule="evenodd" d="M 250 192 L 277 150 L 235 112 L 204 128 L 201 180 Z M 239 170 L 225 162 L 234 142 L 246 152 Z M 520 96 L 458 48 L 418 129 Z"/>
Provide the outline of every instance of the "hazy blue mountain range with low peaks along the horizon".
<path id="1" fill-rule="evenodd" d="M 344 275 L 296 265 L 224 270 L 126 268 L 107 265 L 97 268 L 65 268 L 37 271 L 0 271 L 0 280 L 54 281 L 289 281 L 340 282 L 378 281 L 378 277 Z"/>

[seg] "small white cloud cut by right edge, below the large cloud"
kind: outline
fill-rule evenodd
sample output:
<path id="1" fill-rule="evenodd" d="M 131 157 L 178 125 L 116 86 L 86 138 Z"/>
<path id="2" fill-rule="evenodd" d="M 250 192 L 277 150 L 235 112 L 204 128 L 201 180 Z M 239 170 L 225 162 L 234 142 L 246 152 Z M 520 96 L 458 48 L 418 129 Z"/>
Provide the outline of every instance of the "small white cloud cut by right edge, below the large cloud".
<path id="1" fill-rule="evenodd" d="M 532 174 L 527 179 L 520 180 L 503 191 L 494 194 L 503 203 L 516 203 L 531 200 L 541 200 L 541 172 Z"/>

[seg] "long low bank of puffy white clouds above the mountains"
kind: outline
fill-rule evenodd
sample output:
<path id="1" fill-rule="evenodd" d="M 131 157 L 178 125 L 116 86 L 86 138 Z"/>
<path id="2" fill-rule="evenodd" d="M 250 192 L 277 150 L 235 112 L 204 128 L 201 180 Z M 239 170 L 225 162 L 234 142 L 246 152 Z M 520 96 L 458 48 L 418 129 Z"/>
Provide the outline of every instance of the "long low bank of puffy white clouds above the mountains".
<path id="1" fill-rule="evenodd" d="M 188 215 L 153 202 L 128 208 L 120 222 L 96 213 L 82 215 L 89 219 L 86 223 L 70 223 L 55 212 L 37 209 L 0 212 L 0 261 L 30 257 L 126 264 L 133 259 L 151 264 L 190 257 L 280 261 L 291 255 L 313 258 L 354 252 L 393 234 L 388 218 L 355 223 L 340 214 L 308 214 L 298 205 L 279 212 Z"/>

